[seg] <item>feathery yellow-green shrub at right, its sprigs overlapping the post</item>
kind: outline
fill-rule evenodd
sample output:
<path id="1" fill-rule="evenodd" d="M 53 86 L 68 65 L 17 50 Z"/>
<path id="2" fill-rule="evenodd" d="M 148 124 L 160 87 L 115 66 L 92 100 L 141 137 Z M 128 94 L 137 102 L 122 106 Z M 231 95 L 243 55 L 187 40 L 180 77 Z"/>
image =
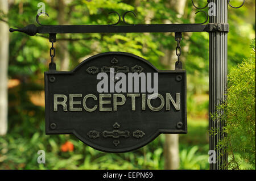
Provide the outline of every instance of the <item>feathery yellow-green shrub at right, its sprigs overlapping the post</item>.
<path id="1" fill-rule="evenodd" d="M 227 96 L 213 115 L 215 121 L 225 120 L 226 137 L 218 149 L 228 147 L 229 169 L 255 169 L 255 39 L 250 57 L 230 70 Z M 219 132 L 213 129 L 211 134 Z"/>

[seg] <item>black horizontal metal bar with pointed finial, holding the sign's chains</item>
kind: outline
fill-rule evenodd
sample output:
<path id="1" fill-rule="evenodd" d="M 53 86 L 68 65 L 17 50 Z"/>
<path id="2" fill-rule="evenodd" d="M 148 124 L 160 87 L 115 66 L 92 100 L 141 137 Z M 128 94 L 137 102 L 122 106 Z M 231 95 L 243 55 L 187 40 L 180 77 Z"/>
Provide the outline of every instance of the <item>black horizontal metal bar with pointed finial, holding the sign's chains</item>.
<path id="1" fill-rule="evenodd" d="M 34 36 L 36 33 L 142 33 L 142 32 L 228 32 L 228 24 L 134 24 L 125 26 L 111 25 L 59 25 L 40 26 L 30 24 L 19 31 Z"/>

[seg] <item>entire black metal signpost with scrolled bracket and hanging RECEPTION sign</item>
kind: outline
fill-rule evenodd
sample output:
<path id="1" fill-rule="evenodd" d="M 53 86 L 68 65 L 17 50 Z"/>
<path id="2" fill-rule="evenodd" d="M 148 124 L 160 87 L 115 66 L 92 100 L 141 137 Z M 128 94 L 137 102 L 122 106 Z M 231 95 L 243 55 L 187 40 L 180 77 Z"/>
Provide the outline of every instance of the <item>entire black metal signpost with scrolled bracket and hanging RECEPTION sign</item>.
<path id="1" fill-rule="evenodd" d="M 225 91 L 227 80 L 227 35 L 229 32 L 229 24 L 227 19 L 228 5 L 234 9 L 238 9 L 242 7 L 244 3 L 245 0 L 243 0 L 241 6 L 235 7 L 230 4 L 230 0 L 208 0 L 206 6 L 197 7 L 192 1 L 193 6 L 195 6 L 196 9 L 200 9 L 200 11 L 197 11 L 196 14 L 198 12 L 204 12 L 202 10 L 209 7 L 209 11 L 211 11 L 210 14 L 213 15 L 209 14 L 208 24 L 204 24 L 208 21 L 208 14 L 206 12 L 204 12 L 204 14 L 206 15 L 207 19 L 204 21 L 204 23 L 129 24 L 126 22 L 125 16 L 127 13 L 131 12 L 134 14 L 134 12 L 127 11 L 122 16 L 123 23 L 125 23 L 126 25 L 116 26 L 119 22 L 121 22 L 121 16 L 118 14 L 118 12 L 112 11 L 110 13 L 115 13 L 119 17 L 118 22 L 114 24 L 44 26 L 39 22 L 39 16 L 41 14 L 48 14 L 46 12 L 40 12 L 36 16 L 36 22 L 38 22 L 38 24 L 40 25 L 39 27 L 36 27 L 34 24 L 30 24 L 24 28 L 10 28 L 10 32 L 18 31 L 26 33 L 30 36 L 34 36 L 36 35 L 36 33 L 49 34 L 49 41 L 52 43 L 52 47 L 50 49 L 50 71 L 45 73 L 46 133 L 73 133 L 78 138 L 80 138 L 80 140 L 92 146 L 93 148 L 109 152 L 124 152 L 137 149 L 143 145 L 146 145 L 160 133 L 187 133 L 187 116 L 185 113 L 185 71 L 180 70 L 182 68 L 182 64 L 180 64 L 179 61 L 180 52 L 177 51 L 181 50 L 180 46 L 177 46 L 176 48 L 176 55 L 178 56 L 178 61 L 176 62 L 175 71 L 158 71 L 154 68 L 154 66 L 148 64 L 147 61 L 143 60 L 140 57 L 127 53 L 112 52 L 91 57 L 88 60 L 82 62 L 79 66 L 77 66 L 75 70 L 71 72 L 60 72 L 55 71 L 56 64 L 55 62 L 53 62 L 53 57 L 55 57 L 55 48 L 53 47 L 53 43 L 56 42 L 57 33 L 175 32 L 175 40 L 179 45 L 181 32 L 208 32 L 210 65 L 209 113 L 212 114 L 215 111 L 216 106 L 218 106 L 218 104 L 226 99 Z M 216 15 L 214 15 L 214 12 L 216 12 Z M 219 55 L 220 53 L 221 55 Z M 116 57 L 122 58 L 121 61 L 117 60 Z M 118 64 L 119 62 L 119 64 L 121 63 L 122 65 L 110 65 L 108 62 L 108 58 L 112 58 L 111 64 Z M 106 97 L 104 97 L 104 95 L 97 94 L 96 90 L 92 87 L 95 86 L 97 82 L 95 81 L 95 79 L 93 79 L 93 75 L 101 71 L 106 72 L 109 68 L 113 68 L 114 70 L 118 70 L 119 72 L 124 72 L 126 74 L 129 74 L 130 71 L 137 72 L 140 70 L 142 72 L 159 72 L 159 92 L 162 92 L 162 94 L 166 94 L 166 102 L 164 100 L 164 96 L 159 94 L 158 98 L 160 99 L 160 106 L 154 107 L 152 105 L 156 103 L 151 104 L 151 100 L 146 100 L 146 95 L 143 94 L 143 92 L 136 93 L 139 94 L 139 98 L 137 98 L 137 95 L 134 94 L 126 94 L 126 96 L 122 94 L 110 94 L 107 96 L 105 95 Z M 90 74 L 89 76 L 85 75 L 85 69 Z M 114 81 L 118 82 L 118 80 Z M 171 92 L 165 93 L 165 91 Z M 216 91 L 220 94 L 216 94 Z M 79 93 L 73 94 L 70 92 Z M 89 94 L 88 92 L 96 93 L 97 95 Z M 172 97 L 174 96 L 172 95 L 174 94 L 174 92 L 176 92 L 176 102 Z M 63 100 L 59 101 L 58 99 L 61 99 L 61 96 Z M 82 98 L 82 96 L 84 96 L 84 98 Z M 77 99 L 77 97 L 82 98 L 82 100 L 75 101 L 74 98 Z M 129 99 L 131 99 L 131 103 L 126 101 L 126 97 L 129 97 Z M 95 103 L 89 103 L 89 101 L 86 102 L 88 98 L 93 100 L 100 99 L 100 101 L 98 102 L 100 107 L 98 107 L 98 105 L 95 105 Z M 111 102 L 110 100 L 105 100 L 105 102 L 103 98 L 113 98 L 113 102 Z M 117 98 L 121 98 L 122 101 L 118 102 Z M 177 102 L 177 98 L 179 98 L 179 103 Z M 68 99 L 69 104 L 67 103 Z M 137 102 L 135 102 L 135 99 L 137 99 Z M 138 108 L 138 99 L 139 101 L 141 101 L 141 110 L 136 109 L 136 107 Z M 157 99 L 154 99 L 155 102 L 156 100 Z M 170 106 L 167 107 L 170 101 L 175 107 L 175 110 L 172 110 Z M 113 108 L 108 107 L 106 108 L 106 110 L 102 110 L 102 105 L 105 103 L 109 103 L 113 106 Z M 74 104 L 75 106 L 79 105 L 80 107 L 74 108 Z M 86 106 L 87 104 L 92 104 L 94 106 L 93 108 L 88 108 Z M 146 107 L 146 105 L 148 107 Z M 163 110 L 164 105 L 166 105 L 165 111 Z M 179 105 L 180 107 L 178 107 L 177 105 Z M 62 111 L 59 110 L 59 106 L 63 106 Z M 122 107 L 119 107 L 117 110 L 117 106 Z M 130 106 L 131 110 L 129 110 Z M 159 114 L 159 112 L 161 114 Z M 104 117 L 104 120 L 102 120 L 101 116 Z M 224 133 L 224 122 L 224 120 L 214 121 L 212 119 L 209 119 L 209 129 L 220 128 L 220 133 L 214 135 L 211 134 L 209 137 L 210 150 L 216 150 L 218 145 L 217 143 L 223 140 L 223 138 L 225 137 L 222 135 Z M 112 127 L 110 126 L 111 124 Z M 133 131 L 135 129 L 136 131 Z M 109 140 L 111 139 L 113 140 L 113 144 L 110 144 Z M 210 169 L 225 169 L 225 167 L 227 166 L 226 163 L 228 163 L 227 161 L 228 154 L 226 153 L 226 149 L 222 149 L 222 153 L 217 152 L 217 162 L 210 163 Z"/>

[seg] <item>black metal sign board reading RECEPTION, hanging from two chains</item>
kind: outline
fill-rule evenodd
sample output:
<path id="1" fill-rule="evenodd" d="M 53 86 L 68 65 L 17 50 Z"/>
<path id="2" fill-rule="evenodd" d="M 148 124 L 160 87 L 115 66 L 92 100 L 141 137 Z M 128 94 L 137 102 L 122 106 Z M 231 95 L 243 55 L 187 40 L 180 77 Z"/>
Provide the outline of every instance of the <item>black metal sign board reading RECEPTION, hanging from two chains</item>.
<path id="1" fill-rule="evenodd" d="M 157 96 L 151 99 L 152 94 L 143 91 L 142 78 L 138 90 L 130 91 L 127 82 L 127 92 L 111 91 L 109 81 L 110 92 L 99 92 L 97 75 L 110 75 L 111 68 L 123 75 L 158 73 Z M 114 77 L 114 83 L 118 81 Z M 134 54 L 101 53 L 73 71 L 47 71 L 45 93 L 46 133 L 75 134 L 97 150 L 131 151 L 160 133 L 187 133 L 185 70 L 159 71 Z"/>

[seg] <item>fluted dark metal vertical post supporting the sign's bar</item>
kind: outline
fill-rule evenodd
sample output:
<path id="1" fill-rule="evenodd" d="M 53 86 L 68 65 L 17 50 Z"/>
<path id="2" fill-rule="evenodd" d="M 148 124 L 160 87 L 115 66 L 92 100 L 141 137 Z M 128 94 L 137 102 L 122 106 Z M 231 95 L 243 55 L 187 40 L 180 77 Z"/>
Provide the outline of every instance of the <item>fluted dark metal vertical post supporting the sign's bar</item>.
<path id="1" fill-rule="evenodd" d="M 216 5 L 216 16 L 209 17 L 209 23 L 228 23 L 228 0 L 210 0 Z M 216 113 L 216 107 L 226 99 L 227 85 L 227 32 L 209 33 L 209 113 Z M 217 110 L 220 116 L 223 111 Z M 220 116 L 221 117 L 221 116 Z M 217 134 L 210 135 L 210 150 L 216 151 L 216 163 L 210 163 L 211 170 L 226 169 L 228 156 L 226 149 L 217 149 L 217 144 L 224 138 L 224 120 L 219 117 L 211 119 L 209 116 L 209 129 L 218 130 Z"/>

